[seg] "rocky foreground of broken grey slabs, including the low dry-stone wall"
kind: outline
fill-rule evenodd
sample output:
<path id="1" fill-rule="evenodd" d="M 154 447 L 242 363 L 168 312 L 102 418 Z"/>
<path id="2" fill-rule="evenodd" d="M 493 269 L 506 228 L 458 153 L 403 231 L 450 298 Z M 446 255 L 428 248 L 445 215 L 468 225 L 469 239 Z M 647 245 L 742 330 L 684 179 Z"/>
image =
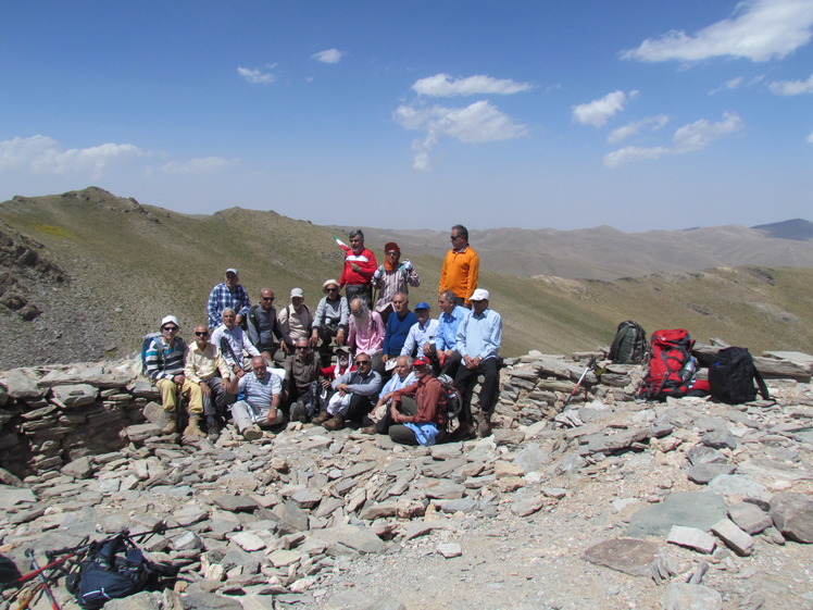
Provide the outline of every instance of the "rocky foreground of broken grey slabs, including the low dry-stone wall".
<path id="1" fill-rule="evenodd" d="M 758 359 L 772 400 L 647 403 L 609 365 L 563 408 L 589 356 L 506 361 L 493 434 L 435 447 L 162 437 L 133 362 L 0 373 L 0 552 L 163 523 L 175 588 L 105 610 L 813 608 L 811 358 Z"/>

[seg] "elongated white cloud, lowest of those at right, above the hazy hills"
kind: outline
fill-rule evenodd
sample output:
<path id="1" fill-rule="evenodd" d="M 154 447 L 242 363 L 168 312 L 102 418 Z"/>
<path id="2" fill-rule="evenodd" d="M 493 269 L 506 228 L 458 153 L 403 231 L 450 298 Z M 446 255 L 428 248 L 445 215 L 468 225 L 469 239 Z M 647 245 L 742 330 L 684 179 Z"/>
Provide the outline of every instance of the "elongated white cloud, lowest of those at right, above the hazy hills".
<path id="1" fill-rule="evenodd" d="M 626 147 L 604 155 L 604 165 L 617 167 L 633 161 L 658 159 L 665 154 L 685 154 L 709 147 L 713 141 L 741 130 L 742 120 L 736 112 L 724 112 L 723 120 L 711 123 L 705 119 L 696 121 L 675 130 L 672 147 L 639 148 Z"/>

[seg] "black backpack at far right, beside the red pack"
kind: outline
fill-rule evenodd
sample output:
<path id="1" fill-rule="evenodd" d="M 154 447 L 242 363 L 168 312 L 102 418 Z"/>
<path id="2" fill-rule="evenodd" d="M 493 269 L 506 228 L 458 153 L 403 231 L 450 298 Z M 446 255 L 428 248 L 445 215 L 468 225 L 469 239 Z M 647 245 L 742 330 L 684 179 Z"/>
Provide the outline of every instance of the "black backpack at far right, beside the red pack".
<path id="1" fill-rule="evenodd" d="M 727 347 L 721 349 L 714 361 L 709 366 L 709 385 L 711 386 L 712 399 L 727 404 L 740 404 L 750 402 L 759 394 L 765 400 L 771 397 L 767 386 L 753 365 L 751 352 L 743 347 Z"/>

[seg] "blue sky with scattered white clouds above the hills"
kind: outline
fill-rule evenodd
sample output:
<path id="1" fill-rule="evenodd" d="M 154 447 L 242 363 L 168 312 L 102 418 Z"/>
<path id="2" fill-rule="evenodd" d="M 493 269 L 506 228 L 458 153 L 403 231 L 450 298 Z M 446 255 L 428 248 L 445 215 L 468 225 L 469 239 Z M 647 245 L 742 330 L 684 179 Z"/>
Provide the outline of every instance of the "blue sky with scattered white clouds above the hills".
<path id="1" fill-rule="evenodd" d="M 0 200 L 622 231 L 810 219 L 813 0 L 0 0 Z"/>

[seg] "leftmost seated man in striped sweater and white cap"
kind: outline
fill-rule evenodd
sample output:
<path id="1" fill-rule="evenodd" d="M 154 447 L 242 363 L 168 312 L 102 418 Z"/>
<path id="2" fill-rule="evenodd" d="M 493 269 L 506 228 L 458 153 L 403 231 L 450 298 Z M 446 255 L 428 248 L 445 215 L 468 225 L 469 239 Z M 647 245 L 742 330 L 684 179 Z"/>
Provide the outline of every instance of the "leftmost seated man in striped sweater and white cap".
<path id="1" fill-rule="evenodd" d="M 175 434 L 178 431 L 175 422 L 175 409 L 178 402 L 178 391 L 184 387 L 186 381 L 186 377 L 184 377 L 186 341 L 178 337 L 179 329 L 177 318 L 174 315 L 164 318 L 161 321 L 161 336 L 152 339 L 145 354 L 147 376 L 161 391 L 161 404 L 170 419 L 161 431 L 162 434 Z M 200 412 L 196 414 L 200 415 L 202 411 L 203 408 L 201 407 Z"/>

